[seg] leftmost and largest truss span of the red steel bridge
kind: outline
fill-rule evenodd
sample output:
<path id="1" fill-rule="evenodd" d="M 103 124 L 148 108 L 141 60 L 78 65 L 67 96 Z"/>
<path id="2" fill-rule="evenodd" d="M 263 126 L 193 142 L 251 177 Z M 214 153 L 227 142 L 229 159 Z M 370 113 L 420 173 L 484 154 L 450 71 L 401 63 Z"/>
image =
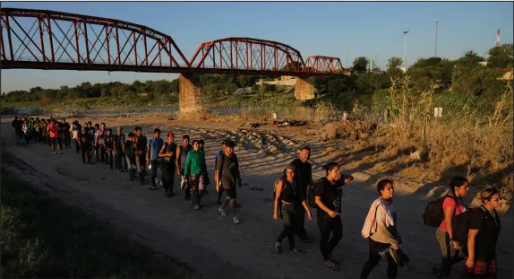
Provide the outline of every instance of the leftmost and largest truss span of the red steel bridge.
<path id="1" fill-rule="evenodd" d="M 173 72 L 189 62 L 168 35 L 113 19 L 2 8 L 2 68 Z"/>

